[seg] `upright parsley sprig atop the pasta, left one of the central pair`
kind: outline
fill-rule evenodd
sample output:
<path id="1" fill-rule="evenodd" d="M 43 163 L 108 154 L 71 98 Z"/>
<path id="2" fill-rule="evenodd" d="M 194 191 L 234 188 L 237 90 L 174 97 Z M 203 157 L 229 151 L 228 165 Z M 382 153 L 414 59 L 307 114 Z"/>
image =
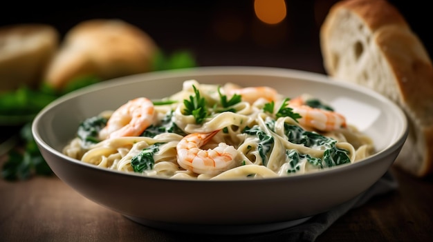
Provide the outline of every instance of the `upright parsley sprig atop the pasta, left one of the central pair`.
<path id="1" fill-rule="evenodd" d="M 196 123 L 200 124 L 205 121 L 205 118 L 208 117 L 208 110 L 206 108 L 206 100 L 201 97 L 199 90 L 192 85 L 194 88 L 194 96 L 190 96 L 190 100 L 184 99 L 183 104 L 185 105 L 185 109 L 183 110 L 186 115 L 192 115 L 196 120 Z"/>

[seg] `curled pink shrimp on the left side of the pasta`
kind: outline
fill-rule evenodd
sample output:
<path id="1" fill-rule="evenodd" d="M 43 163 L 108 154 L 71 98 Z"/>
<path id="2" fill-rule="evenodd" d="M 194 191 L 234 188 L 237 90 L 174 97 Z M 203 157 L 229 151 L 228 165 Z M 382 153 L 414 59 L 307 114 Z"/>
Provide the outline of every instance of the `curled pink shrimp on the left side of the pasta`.
<path id="1" fill-rule="evenodd" d="M 100 130 L 100 139 L 140 136 L 154 121 L 154 103 L 145 97 L 133 99 L 111 114 Z"/>

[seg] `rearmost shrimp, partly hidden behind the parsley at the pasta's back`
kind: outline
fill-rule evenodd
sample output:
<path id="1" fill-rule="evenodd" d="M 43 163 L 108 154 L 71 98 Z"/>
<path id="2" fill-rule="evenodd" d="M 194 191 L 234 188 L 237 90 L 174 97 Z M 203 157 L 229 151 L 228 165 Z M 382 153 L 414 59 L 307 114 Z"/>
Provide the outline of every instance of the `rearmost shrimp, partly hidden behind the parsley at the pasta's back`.
<path id="1" fill-rule="evenodd" d="M 242 100 L 248 101 L 248 103 L 254 103 L 259 98 L 264 98 L 267 101 L 275 101 L 278 95 L 275 89 L 266 86 L 227 89 L 225 92 L 230 96 L 239 94 L 242 96 Z"/>

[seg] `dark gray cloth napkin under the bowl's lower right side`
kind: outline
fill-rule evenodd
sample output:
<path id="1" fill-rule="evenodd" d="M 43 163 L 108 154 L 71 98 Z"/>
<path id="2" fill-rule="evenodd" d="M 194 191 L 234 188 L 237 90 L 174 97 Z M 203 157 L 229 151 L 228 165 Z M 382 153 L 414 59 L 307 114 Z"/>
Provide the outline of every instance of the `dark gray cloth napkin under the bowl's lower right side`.
<path id="1" fill-rule="evenodd" d="M 358 208 L 367 203 L 374 196 L 391 192 L 398 188 L 398 183 L 392 174 L 388 171 L 381 177 L 374 185 L 366 192 L 358 195 L 356 198 L 339 205 L 337 208 L 317 214 L 308 221 L 296 225 L 291 228 L 279 230 L 275 232 L 268 232 L 263 234 L 248 234 L 248 235 L 201 235 L 201 241 L 246 241 L 246 242 L 259 242 L 259 241 L 315 241 L 317 236 L 322 234 L 329 228 L 337 219 L 353 208 Z M 179 235 L 179 234 L 178 234 Z M 178 239 L 179 236 L 177 236 Z M 185 238 L 184 238 L 185 239 Z M 197 239 L 197 238 L 195 238 Z M 188 236 L 189 241 L 195 241 L 194 236 Z M 204 239 L 204 240 L 203 240 Z"/>

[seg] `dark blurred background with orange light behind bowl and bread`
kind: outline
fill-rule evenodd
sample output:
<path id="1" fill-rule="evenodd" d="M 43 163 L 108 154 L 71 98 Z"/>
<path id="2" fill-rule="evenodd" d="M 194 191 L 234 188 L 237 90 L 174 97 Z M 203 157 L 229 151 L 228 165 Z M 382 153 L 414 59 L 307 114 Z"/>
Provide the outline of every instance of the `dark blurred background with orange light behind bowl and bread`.
<path id="1" fill-rule="evenodd" d="M 0 26 L 48 23 L 65 34 L 87 19 L 122 19 L 147 32 L 165 52 L 192 52 L 199 65 L 324 72 L 318 34 L 336 1 L 12 1 L 3 7 Z M 403 13 L 432 57 L 431 28 L 425 26 L 432 23 L 428 1 L 389 1 Z"/>

